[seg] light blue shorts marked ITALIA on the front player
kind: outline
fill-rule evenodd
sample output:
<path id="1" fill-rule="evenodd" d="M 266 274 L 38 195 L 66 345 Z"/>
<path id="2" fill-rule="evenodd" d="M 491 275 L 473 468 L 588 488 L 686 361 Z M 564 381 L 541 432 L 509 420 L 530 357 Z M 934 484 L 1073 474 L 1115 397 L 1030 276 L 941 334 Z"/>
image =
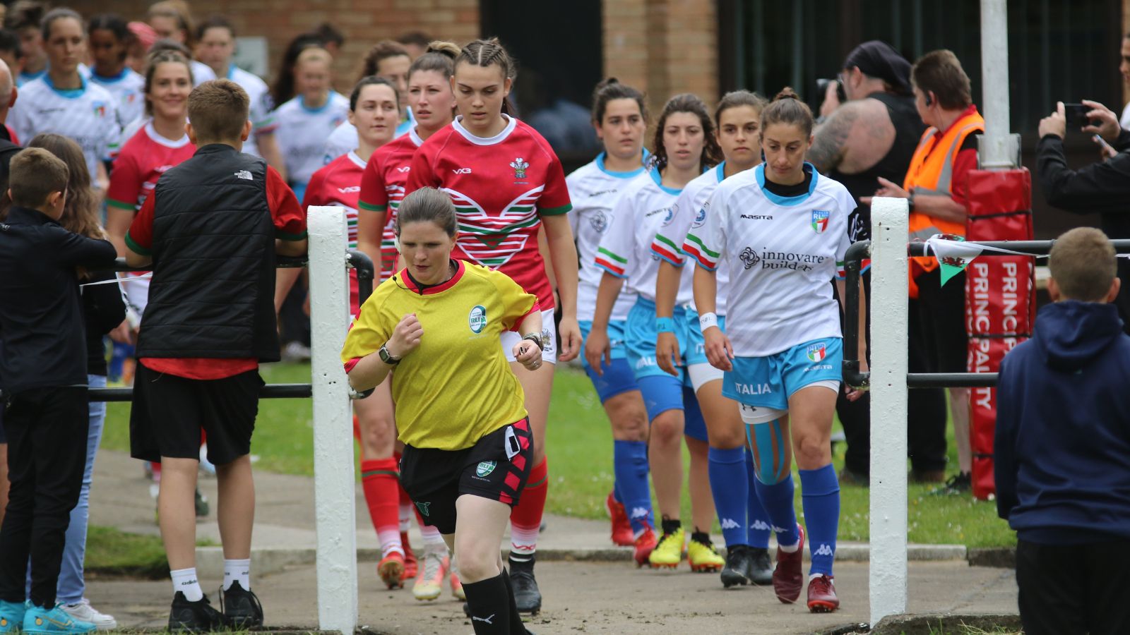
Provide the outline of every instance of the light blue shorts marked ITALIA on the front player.
<path id="1" fill-rule="evenodd" d="M 766 357 L 737 357 L 722 394 L 758 408 L 789 409 L 789 398 L 816 382 L 843 381 L 843 340 L 824 338 Z"/>

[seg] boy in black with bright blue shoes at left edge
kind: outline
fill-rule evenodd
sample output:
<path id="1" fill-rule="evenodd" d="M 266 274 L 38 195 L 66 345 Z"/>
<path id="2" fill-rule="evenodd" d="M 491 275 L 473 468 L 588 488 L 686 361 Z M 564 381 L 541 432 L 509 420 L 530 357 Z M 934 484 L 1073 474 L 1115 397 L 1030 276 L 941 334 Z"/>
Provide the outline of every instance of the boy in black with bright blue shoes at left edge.
<path id="1" fill-rule="evenodd" d="M 86 329 L 76 268 L 112 264 L 114 246 L 59 225 L 68 169 L 51 153 L 20 151 L 10 175 L 14 205 L 0 224 L 0 389 L 7 401 L 11 482 L 0 528 L 0 630 L 88 633 L 93 624 L 55 604 L 88 428 Z"/>

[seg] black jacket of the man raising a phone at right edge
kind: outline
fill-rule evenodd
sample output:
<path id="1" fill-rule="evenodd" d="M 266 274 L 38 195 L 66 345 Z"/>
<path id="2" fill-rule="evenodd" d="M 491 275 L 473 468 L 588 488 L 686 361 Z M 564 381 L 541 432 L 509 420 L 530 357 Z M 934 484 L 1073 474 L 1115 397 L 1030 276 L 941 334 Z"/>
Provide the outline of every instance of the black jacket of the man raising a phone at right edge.
<path id="1" fill-rule="evenodd" d="M 1068 169 L 1063 139 L 1045 134 L 1036 146 L 1036 172 L 1044 200 L 1074 214 L 1101 215 L 1103 232 L 1111 238 L 1130 238 L 1130 131 L 1123 130 L 1111 159 Z M 1130 333 L 1130 260 L 1119 259 L 1122 290 L 1114 298 L 1123 330 Z"/>

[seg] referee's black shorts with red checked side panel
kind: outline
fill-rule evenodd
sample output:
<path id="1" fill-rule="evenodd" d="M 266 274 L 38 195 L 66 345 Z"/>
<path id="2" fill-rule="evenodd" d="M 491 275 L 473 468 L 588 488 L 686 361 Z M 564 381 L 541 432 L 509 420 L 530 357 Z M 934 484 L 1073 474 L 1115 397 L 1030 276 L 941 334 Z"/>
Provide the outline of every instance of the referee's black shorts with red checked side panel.
<path id="1" fill-rule="evenodd" d="M 503 426 L 464 450 L 405 445 L 400 485 L 416 503 L 425 524 L 455 532 L 455 499 L 463 494 L 510 506 L 530 478 L 533 433 L 530 419 Z"/>

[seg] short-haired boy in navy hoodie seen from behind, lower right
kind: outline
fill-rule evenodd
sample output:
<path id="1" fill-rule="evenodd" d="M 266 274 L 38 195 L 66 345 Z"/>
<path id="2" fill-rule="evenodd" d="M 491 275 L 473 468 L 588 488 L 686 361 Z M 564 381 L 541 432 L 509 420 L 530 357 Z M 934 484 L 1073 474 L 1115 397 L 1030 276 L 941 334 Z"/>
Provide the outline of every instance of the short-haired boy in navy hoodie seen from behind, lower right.
<path id="1" fill-rule="evenodd" d="M 997 511 L 1016 530 L 1028 635 L 1130 633 L 1130 337 L 1116 256 L 1079 227 L 1055 241 L 1031 340 L 1000 365 Z"/>

